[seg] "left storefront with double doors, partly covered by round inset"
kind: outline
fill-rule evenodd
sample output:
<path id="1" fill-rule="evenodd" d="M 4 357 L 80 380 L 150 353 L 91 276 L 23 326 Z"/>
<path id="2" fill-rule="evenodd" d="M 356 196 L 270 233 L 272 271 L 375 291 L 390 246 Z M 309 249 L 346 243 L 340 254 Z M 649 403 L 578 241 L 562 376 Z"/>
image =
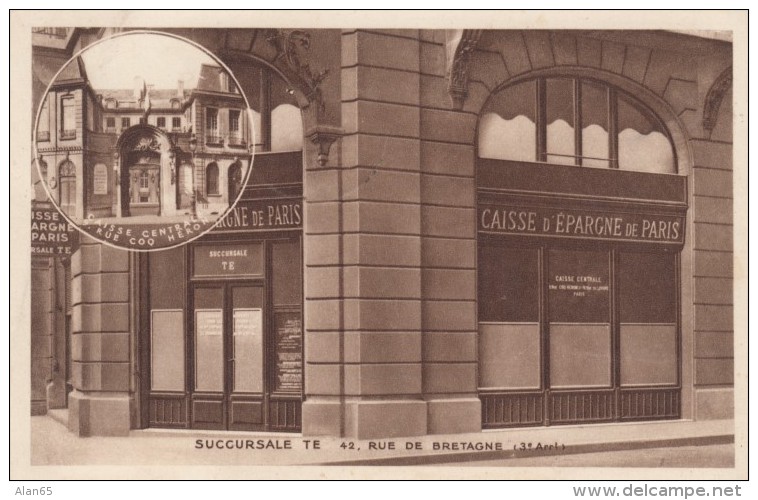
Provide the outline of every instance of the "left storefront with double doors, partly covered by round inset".
<path id="1" fill-rule="evenodd" d="M 301 165 L 258 155 L 216 229 L 142 259 L 142 426 L 300 430 Z"/>

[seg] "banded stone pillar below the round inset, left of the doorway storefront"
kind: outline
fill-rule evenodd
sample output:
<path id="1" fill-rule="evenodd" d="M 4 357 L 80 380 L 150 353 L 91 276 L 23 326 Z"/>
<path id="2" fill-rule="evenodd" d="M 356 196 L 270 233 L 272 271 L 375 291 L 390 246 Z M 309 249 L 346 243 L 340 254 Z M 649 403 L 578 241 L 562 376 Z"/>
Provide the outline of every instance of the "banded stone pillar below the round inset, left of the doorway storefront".
<path id="1" fill-rule="evenodd" d="M 129 252 L 83 238 L 71 261 L 69 429 L 79 436 L 130 428 Z"/>

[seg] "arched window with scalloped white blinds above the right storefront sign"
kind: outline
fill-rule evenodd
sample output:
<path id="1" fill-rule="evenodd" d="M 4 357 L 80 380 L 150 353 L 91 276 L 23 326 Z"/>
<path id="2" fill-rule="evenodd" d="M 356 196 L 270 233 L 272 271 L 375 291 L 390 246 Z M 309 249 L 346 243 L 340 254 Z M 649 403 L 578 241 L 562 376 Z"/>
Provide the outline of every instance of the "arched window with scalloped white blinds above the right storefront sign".
<path id="1" fill-rule="evenodd" d="M 492 96 L 479 121 L 479 157 L 676 173 L 653 113 L 621 90 L 577 78 L 538 78 Z"/>

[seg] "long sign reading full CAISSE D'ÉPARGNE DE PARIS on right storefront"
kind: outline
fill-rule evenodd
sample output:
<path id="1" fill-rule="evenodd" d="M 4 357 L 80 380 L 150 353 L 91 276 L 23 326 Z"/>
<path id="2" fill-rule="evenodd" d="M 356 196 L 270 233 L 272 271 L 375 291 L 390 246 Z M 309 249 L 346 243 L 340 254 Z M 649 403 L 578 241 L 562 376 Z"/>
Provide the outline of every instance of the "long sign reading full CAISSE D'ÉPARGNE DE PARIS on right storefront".
<path id="1" fill-rule="evenodd" d="M 480 205 L 479 231 L 647 243 L 684 243 L 684 217 L 644 213 Z"/>

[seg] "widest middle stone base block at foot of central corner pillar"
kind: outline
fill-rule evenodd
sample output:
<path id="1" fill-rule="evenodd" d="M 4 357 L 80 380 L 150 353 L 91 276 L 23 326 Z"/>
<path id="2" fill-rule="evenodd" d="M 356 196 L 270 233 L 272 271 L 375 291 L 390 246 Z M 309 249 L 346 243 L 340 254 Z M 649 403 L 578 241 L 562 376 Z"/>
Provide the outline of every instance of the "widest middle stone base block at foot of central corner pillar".
<path id="1" fill-rule="evenodd" d="M 356 439 L 427 434 L 425 401 L 388 400 L 346 403 L 345 437 Z"/>

